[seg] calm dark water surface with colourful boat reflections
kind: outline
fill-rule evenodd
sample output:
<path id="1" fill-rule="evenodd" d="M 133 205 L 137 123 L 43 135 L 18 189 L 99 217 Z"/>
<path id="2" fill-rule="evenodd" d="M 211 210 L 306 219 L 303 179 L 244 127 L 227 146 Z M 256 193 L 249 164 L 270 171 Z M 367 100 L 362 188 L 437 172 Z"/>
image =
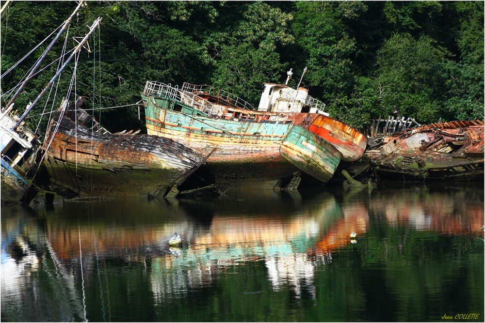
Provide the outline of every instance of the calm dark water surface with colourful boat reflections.
<path id="1" fill-rule="evenodd" d="M 483 225 L 483 183 L 2 207 L 1 321 L 483 322 Z"/>

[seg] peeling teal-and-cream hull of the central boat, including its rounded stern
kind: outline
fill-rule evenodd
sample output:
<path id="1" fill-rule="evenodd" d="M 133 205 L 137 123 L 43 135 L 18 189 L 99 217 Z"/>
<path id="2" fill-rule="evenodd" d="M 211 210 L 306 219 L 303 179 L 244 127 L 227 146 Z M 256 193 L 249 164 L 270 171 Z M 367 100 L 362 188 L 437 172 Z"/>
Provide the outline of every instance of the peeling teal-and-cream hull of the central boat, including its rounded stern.
<path id="1" fill-rule="evenodd" d="M 338 151 L 323 146 L 323 139 L 301 127 L 298 128 L 306 133 L 307 141 L 313 140 L 311 142 L 319 145 L 318 152 L 309 156 L 305 148 L 301 148 L 305 155 L 298 157 L 300 151 L 290 154 L 284 148 L 282 153 L 282 144 L 294 128 L 291 122 L 214 118 L 176 100 L 145 94 L 142 98 L 149 135 L 174 139 L 202 155 L 216 148 L 207 163 L 217 184 L 223 187 L 277 188 L 300 170 L 327 182 L 341 158 Z M 312 160 L 330 152 L 335 156 L 328 165 Z M 311 165 L 306 165 L 305 161 Z"/>

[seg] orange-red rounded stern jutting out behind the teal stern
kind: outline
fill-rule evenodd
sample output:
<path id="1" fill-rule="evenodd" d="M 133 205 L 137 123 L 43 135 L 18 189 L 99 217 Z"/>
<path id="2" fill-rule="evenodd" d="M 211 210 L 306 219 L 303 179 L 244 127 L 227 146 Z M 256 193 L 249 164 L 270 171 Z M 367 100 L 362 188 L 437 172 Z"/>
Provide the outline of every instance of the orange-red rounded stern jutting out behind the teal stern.
<path id="1" fill-rule="evenodd" d="M 322 137 L 342 153 L 342 160 L 356 161 L 365 152 L 367 136 L 356 128 L 336 119 L 319 114 L 308 130 Z"/>

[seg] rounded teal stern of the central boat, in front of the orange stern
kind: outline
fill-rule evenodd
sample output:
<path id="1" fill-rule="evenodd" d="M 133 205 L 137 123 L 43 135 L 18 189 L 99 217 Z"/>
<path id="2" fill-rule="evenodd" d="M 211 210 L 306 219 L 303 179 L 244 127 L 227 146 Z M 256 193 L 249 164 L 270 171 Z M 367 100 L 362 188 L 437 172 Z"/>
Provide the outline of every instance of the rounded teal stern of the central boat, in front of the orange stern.
<path id="1" fill-rule="evenodd" d="M 293 125 L 280 147 L 293 165 L 322 182 L 328 182 L 342 154 L 331 144 L 306 129 Z"/>

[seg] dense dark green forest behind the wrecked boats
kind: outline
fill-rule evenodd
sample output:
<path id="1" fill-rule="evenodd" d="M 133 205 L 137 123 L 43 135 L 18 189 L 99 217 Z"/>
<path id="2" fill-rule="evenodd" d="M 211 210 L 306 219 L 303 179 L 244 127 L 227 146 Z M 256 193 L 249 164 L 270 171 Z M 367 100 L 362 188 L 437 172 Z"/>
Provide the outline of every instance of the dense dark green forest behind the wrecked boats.
<path id="1" fill-rule="evenodd" d="M 5 7 L 2 107 L 50 40 L 11 67 L 76 5 L 12 1 Z M 46 94 L 32 110 L 31 128 L 44 109 L 58 107 L 75 66 L 72 92 L 97 109 L 137 103 L 146 80 L 211 84 L 257 106 L 263 82 L 284 83 L 292 68 L 295 87 L 307 66 L 301 86 L 332 117 L 359 129 L 392 115 L 393 106 L 420 123 L 484 118 L 484 1 L 89 1 L 65 33 L 67 50 L 98 16 L 102 26 L 89 41 L 91 52 L 83 50 L 49 100 Z M 19 112 L 55 74 L 58 62 L 49 64 L 64 43 L 58 41 L 46 68 L 17 98 Z M 136 106 L 96 110 L 112 131 L 143 128 L 143 117 Z M 44 117 L 39 129 L 46 123 Z"/>

